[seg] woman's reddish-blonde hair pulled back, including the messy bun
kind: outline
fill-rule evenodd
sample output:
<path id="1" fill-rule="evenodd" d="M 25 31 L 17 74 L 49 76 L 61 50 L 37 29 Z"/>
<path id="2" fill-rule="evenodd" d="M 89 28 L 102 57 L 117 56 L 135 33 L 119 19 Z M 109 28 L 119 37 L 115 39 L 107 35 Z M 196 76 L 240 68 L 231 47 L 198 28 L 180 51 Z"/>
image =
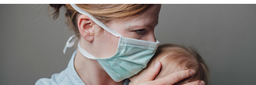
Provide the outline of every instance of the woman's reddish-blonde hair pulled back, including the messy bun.
<path id="1" fill-rule="evenodd" d="M 58 17 L 60 8 L 64 6 L 66 10 L 65 16 L 67 17 L 66 24 L 76 33 L 77 37 L 80 37 L 76 19 L 78 12 L 70 4 L 50 4 L 50 6 L 54 10 L 52 13 L 53 19 Z M 76 4 L 76 6 L 106 24 L 111 20 L 137 17 L 151 7 L 152 4 Z M 102 30 L 101 28 L 99 31 Z"/>

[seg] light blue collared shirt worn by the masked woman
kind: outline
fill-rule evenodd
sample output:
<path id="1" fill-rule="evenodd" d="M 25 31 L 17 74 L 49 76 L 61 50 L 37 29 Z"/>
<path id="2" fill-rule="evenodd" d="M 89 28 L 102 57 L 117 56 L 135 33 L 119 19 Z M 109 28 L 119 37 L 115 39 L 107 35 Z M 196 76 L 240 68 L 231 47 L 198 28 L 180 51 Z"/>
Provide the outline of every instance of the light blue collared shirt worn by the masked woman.
<path id="1" fill-rule="evenodd" d="M 77 51 L 77 50 L 76 50 Z M 76 73 L 74 67 L 74 59 L 76 56 L 76 51 L 74 51 L 67 68 L 60 73 L 52 74 L 50 79 L 41 78 L 35 82 L 35 85 L 85 85 Z M 124 85 L 128 85 L 129 79 L 125 79 Z"/>

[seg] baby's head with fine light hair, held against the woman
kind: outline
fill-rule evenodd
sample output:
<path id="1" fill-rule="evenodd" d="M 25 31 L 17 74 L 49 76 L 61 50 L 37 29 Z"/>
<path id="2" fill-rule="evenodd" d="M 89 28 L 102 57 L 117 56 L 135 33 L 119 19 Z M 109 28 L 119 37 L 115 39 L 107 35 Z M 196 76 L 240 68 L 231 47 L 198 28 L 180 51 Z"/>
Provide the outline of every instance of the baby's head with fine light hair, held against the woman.
<path id="1" fill-rule="evenodd" d="M 206 85 L 209 83 L 209 70 L 195 48 L 177 44 L 164 44 L 157 48 L 156 54 L 148 62 L 145 69 L 129 78 L 131 80 L 129 85 L 135 85 L 157 61 L 162 63 L 162 67 L 155 79 L 166 77 L 177 71 L 193 69 L 195 70 L 194 76 L 183 79 L 174 85 L 182 85 L 196 80 L 203 80 Z"/>

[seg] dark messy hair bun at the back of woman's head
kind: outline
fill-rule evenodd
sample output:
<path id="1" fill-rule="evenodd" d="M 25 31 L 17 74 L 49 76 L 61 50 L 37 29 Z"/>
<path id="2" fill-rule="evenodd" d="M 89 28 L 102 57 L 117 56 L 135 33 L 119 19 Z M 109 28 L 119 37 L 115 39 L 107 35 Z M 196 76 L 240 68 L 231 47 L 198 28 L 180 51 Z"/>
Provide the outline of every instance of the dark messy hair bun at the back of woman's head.
<path id="1" fill-rule="evenodd" d="M 53 8 L 53 13 L 51 15 L 53 15 L 53 19 L 57 19 L 59 12 L 60 12 L 60 8 L 62 6 L 66 6 L 65 4 L 50 4 L 50 6 Z"/>

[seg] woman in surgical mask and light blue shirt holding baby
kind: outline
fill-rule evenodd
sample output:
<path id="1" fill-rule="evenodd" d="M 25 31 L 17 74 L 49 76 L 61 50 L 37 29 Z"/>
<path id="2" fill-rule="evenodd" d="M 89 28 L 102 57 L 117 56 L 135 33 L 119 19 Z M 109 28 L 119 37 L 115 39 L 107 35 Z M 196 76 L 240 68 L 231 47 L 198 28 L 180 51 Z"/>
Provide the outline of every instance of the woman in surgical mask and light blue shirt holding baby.
<path id="1" fill-rule="evenodd" d="M 146 67 L 159 42 L 154 37 L 159 4 L 66 4 L 51 5 L 58 17 L 61 6 L 66 9 L 68 25 L 76 33 L 78 50 L 64 71 L 51 79 L 39 79 L 36 85 L 128 85 L 127 78 Z M 140 79 L 137 85 L 172 85 L 192 76 L 194 70 L 179 71 L 154 80 L 160 62 Z M 153 81 L 154 80 L 154 81 Z M 199 85 L 200 80 L 187 83 Z M 204 84 L 204 82 L 201 82 Z"/>

